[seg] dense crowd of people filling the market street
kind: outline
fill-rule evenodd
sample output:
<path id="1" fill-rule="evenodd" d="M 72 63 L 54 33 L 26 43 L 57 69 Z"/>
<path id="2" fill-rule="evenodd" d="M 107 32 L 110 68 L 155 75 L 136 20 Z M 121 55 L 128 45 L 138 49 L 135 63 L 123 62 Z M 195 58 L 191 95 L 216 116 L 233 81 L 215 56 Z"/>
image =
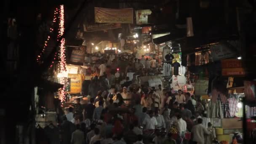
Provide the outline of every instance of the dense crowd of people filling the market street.
<path id="1" fill-rule="evenodd" d="M 99 74 L 89 84 L 87 104 L 76 99 L 62 118 L 63 144 L 213 143 L 214 128 L 211 123 L 205 126 L 204 120 L 207 104 L 181 90 L 141 84 L 143 71 L 157 64 L 144 56 L 128 60 L 123 71 L 118 69 L 118 61 L 113 64 L 115 59 L 112 63 L 106 60 L 94 71 Z M 128 72 L 134 72 L 133 78 L 127 77 Z"/>

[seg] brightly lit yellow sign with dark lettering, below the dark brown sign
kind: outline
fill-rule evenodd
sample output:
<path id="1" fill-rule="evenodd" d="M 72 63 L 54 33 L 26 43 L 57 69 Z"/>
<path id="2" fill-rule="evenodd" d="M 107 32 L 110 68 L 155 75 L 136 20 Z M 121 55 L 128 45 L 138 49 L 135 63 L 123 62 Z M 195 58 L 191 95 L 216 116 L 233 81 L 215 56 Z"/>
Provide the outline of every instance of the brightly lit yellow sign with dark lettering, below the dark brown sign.
<path id="1" fill-rule="evenodd" d="M 83 74 L 69 74 L 70 78 L 70 92 L 80 93 L 82 91 L 82 84 L 85 76 Z"/>

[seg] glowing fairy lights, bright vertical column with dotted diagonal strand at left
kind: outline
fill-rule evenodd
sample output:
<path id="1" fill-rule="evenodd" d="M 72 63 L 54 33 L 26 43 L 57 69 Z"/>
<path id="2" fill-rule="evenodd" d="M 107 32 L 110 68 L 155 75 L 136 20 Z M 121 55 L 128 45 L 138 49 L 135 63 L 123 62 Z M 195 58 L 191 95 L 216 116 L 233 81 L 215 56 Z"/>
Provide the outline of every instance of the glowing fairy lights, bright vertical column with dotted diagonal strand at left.
<path id="1" fill-rule="evenodd" d="M 59 18 L 59 28 L 58 28 L 58 35 L 57 35 L 57 41 L 60 40 L 60 38 L 63 36 L 64 34 L 64 5 L 60 5 L 59 8 L 56 8 L 54 11 L 54 17 L 53 17 L 53 25 L 54 23 L 56 23 L 57 21 L 57 15 Z M 40 54 L 37 56 L 37 62 L 40 63 L 41 58 L 43 53 L 45 52 L 45 49 L 48 46 L 48 41 L 51 38 L 51 34 L 53 33 L 53 28 L 50 28 L 50 34 L 47 37 L 47 40 L 45 40 L 44 42 L 44 46 L 42 51 L 40 52 Z M 54 54 L 54 58 L 53 61 L 51 62 L 50 68 L 53 67 L 54 61 L 57 59 L 57 56 L 59 57 L 60 61 L 58 63 L 58 73 L 60 74 L 59 78 L 59 82 L 60 84 L 64 85 L 60 90 L 59 90 L 59 99 L 61 100 L 61 105 L 63 106 L 63 102 L 65 101 L 66 95 L 67 95 L 67 91 L 65 91 L 66 89 L 66 83 L 67 83 L 67 78 L 64 77 L 64 72 L 67 71 L 66 68 L 66 48 L 65 48 L 65 38 L 61 38 L 60 40 L 60 46 L 59 46 L 59 51 L 58 53 L 56 52 Z"/>

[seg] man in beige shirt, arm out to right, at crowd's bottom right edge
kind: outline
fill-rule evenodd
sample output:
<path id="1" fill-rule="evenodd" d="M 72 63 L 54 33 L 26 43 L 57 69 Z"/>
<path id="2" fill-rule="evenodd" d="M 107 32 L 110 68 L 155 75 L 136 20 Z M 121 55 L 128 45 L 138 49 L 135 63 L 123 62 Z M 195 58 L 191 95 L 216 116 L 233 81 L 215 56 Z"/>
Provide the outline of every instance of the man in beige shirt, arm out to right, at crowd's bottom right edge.
<path id="1" fill-rule="evenodd" d="M 192 140 L 197 142 L 197 144 L 204 144 L 205 143 L 205 135 L 211 134 L 203 125 L 203 119 L 197 119 L 197 125 L 193 126 L 192 132 Z"/>

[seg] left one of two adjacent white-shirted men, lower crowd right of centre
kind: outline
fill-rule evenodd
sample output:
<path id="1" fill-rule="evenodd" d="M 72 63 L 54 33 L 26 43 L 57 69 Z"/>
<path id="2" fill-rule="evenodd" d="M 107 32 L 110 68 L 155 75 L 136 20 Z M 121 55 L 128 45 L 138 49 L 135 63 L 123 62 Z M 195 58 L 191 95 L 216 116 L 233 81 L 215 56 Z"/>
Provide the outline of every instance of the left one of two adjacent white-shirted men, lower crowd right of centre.
<path id="1" fill-rule="evenodd" d="M 155 130 L 157 127 L 157 119 L 153 117 L 154 112 L 152 110 L 149 111 L 149 117 L 145 117 L 143 121 L 143 128 L 145 130 Z"/>

